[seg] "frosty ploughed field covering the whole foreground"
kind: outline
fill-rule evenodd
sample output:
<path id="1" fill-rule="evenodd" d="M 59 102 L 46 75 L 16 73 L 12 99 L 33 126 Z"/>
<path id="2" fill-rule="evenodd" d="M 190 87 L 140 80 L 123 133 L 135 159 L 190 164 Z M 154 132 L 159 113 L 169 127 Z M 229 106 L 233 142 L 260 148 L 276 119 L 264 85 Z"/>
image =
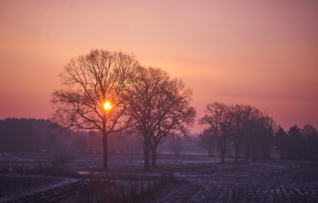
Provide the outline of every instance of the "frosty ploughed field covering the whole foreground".
<path id="1" fill-rule="evenodd" d="M 100 171 L 101 155 L 68 157 L 53 169 L 55 154 L 0 152 L 0 202 L 122 202 L 133 194 L 143 203 L 318 202 L 317 162 L 226 159 L 221 165 L 202 153 L 162 152 L 158 167 L 143 173 L 142 156 L 110 155 L 109 172 Z"/>

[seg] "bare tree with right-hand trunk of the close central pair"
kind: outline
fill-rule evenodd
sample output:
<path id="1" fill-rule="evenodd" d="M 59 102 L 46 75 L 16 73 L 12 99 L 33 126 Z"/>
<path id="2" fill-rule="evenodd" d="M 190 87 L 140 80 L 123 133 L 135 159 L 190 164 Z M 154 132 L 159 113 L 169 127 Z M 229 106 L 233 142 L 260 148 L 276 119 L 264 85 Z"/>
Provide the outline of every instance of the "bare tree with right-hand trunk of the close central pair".
<path id="1" fill-rule="evenodd" d="M 152 162 L 156 167 L 156 149 L 162 138 L 182 134 L 187 139 L 190 136 L 189 127 L 193 127 L 197 111 L 190 106 L 192 89 L 186 88 L 182 79 L 174 78 L 169 81 L 164 91 L 158 97 L 159 120 L 156 131 L 151 134 L 150 142 Z"/>

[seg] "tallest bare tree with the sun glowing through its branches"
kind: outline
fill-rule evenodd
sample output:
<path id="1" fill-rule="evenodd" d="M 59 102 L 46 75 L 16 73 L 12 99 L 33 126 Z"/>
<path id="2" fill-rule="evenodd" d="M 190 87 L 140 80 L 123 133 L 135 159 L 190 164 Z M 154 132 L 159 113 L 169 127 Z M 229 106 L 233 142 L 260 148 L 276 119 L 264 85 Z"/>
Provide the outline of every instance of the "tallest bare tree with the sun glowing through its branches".
<path id="1" fill-rule="evenodd" d="M 108 170 L 107 135 L 129 127 L 125 90 L 139 66 L 133 54 L 91 50 L 72 58 L 59 74 L 66 88 L 54 90 L 50 102 L 56 127 L 70 132 L 96 129 L 103 134 L 103 170 Z"/>

